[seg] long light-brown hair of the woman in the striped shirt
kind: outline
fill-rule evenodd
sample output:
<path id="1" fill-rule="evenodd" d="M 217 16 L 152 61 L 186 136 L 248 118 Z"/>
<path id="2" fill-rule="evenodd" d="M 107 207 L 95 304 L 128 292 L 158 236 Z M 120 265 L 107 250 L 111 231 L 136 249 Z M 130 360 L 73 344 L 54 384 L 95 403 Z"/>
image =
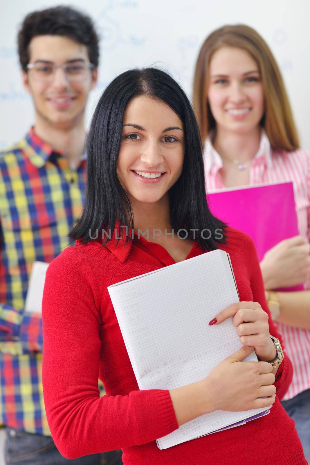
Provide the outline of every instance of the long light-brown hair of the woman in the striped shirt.
<path id="1" fill-rule="evenodd" d="M 265 95 L 265 113 L 261 124 L 271 147 L 288 151 L 299 148 L 298 134 L 278 64 L 265 40 L 252 27 L 244 24 L 216 29 L 200 49 L 194 75 L 193 103 L 202 141 L 216 126 L 207 101 L 210 61 L 214 52 L 227 46 L 246 50 L 258 64 Z"/>

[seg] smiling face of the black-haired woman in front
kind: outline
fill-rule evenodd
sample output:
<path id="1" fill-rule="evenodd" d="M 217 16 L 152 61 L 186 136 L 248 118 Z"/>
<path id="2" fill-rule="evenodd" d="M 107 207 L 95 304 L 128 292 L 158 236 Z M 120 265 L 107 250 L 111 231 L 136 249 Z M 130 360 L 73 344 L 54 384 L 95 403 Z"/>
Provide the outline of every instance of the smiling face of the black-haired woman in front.
<path id="1" fill-rule="evenodd" d="M 132 99 L 123 118 L 117 175 L 132 201 L 154 203 L 179 178 L 184 159 L 183 124 L 163 101 Z M 135 202 L 135 203 L 136 203 Z"/>

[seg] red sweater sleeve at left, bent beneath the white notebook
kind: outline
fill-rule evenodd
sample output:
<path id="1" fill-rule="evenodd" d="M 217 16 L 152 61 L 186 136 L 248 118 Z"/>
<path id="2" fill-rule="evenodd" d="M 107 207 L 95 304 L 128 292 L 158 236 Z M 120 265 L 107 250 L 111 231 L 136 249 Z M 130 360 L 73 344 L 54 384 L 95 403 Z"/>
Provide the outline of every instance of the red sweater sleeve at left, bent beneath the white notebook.
<path id="1" fill-rule="evenodd" d="M 45 410 L 66 458 L 142 445 L 178 428 L 168 391 L 99 397 L 101 347 L 94 267 L 71 247 L 49 266 L 42 303 Z M 102 278 L 104 279 L 104 278 Z"/>

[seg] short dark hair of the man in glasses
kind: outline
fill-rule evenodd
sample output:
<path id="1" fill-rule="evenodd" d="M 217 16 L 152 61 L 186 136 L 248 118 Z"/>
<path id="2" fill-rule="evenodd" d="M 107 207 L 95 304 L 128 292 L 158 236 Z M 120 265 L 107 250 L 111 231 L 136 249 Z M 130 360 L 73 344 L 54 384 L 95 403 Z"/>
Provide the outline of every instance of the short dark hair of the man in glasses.
<path id="1" fill-rule="evenodd" d="M 52 7 L 27 14 L 18 33 L 19 61 L 27 71 L 29 44 L 38 35 L 61 35 L 87 47 L 90 63 L 99 61 L 99 37 L 94 23 L 84 13 L 71 7 Z"/>

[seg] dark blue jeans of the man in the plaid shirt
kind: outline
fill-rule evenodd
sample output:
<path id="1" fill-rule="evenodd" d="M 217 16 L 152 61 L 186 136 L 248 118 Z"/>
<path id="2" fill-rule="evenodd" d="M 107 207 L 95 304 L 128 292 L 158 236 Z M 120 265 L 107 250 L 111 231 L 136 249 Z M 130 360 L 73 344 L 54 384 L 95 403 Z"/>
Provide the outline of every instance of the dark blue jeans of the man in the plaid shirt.
<path id="1" fill-rule="evenodd" d="M 102 452 L 69 460 L 50 436 L 6 428 L 6 465 L 123 465 L 122 451 Z"/>

